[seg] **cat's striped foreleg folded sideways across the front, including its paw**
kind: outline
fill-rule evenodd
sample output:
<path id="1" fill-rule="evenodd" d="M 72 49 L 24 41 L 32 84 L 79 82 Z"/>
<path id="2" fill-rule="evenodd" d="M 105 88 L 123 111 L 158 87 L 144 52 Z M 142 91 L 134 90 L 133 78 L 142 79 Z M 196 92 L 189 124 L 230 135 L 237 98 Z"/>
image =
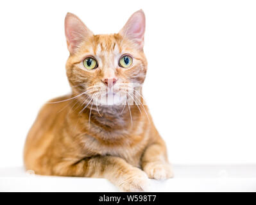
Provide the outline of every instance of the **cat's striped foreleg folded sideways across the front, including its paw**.
<path id="1" fill-rule="evenodd" d="M 94 156 L 72 165 L 62 162 L 54 170 L 55 175 L 105 178 L 124 192 L 145 191 L 149 184 L 145 172 L 115 156 Z"/>

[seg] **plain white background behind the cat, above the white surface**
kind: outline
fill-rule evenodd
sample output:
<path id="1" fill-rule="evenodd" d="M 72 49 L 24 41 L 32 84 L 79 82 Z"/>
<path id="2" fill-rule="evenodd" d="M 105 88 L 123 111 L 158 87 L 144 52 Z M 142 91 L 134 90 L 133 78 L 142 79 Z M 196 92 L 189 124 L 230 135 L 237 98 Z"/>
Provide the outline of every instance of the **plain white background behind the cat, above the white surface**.
<path id="1" fill-rule="evenodd" d="M 255 1 L 1 1 L 0 167 L 22 165 L 47 100 L 70 92 L 67 12 L 94 33 L 146 14 L 144 85 L 172 163 L 256 163 Z"/>

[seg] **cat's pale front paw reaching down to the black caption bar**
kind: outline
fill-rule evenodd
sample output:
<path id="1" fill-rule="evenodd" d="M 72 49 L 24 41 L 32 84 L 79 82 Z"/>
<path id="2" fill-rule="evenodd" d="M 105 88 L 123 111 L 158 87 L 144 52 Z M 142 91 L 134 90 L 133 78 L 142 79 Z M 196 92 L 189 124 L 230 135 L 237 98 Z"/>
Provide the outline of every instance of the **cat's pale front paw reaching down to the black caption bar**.
<path id="1" fill-rule="evenodd" d="M 149 179 L 145 172 L 136 168 L 136 171 L 124 177 L 118 186 L 123 192 L 145 192 L 149 187 Z"/>

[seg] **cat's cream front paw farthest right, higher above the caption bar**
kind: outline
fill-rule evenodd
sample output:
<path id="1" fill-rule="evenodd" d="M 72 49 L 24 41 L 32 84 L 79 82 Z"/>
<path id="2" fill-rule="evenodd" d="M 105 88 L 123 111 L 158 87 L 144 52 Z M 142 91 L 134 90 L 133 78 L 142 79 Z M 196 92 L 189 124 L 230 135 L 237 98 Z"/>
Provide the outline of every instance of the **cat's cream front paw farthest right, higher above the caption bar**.
<path id="1" fill-rule="evenodd" d="M 143 167 L 150 179 L 169 179 L 173 177 L 173 170 L 169 163 L 149 162 Z"/>

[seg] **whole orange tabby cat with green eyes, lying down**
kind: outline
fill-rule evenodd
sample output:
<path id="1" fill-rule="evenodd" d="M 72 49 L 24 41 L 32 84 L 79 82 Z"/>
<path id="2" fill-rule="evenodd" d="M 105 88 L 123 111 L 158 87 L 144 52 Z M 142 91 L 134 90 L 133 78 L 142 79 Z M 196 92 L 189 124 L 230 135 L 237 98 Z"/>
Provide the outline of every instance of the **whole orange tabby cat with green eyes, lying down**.
<path id="1" fill-rule="evenodd" d="M 166 145 L 138 87 L 146 76 L 145 17 L 133 13 L 119 33 L 94 35 L 67 13 L 72 94 L 49 101 L 31 127 L 26 169 L 36 174 L 104 177 L 123 191 L 143 191 L 172 176 Z"/>

